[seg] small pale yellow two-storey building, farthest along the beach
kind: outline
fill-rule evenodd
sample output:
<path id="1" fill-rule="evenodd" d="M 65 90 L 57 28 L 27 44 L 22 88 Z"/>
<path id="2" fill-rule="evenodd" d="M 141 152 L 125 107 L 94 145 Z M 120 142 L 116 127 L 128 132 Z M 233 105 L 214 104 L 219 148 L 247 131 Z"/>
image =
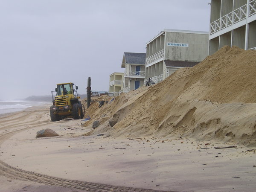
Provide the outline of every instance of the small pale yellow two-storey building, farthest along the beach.
<path id="1" fill-rule="evenodd" d="M 112 73 L 109 76 L 109 95 L 118 96 L 123 89 L 124 73 Z"/>

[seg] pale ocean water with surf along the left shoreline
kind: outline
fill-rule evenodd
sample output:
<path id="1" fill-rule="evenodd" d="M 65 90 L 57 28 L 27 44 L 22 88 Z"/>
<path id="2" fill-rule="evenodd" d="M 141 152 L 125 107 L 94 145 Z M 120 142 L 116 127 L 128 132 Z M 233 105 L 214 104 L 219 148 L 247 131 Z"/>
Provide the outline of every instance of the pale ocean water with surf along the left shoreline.
<path id="1" fill-rule="evenodd" d="M 44 105 L 45 102 L 30 102 L 22 100 L 0 100 L 0 114 L 22 111 L 26 108 L 38 105 Z"/>

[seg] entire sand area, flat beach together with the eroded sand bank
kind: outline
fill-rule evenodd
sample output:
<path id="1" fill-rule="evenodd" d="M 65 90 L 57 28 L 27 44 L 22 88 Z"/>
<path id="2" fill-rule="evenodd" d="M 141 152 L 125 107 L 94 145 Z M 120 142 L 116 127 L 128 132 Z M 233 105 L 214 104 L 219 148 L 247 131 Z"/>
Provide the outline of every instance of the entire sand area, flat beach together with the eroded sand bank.
<path id="1" fill-rule="evenodd" d="M 49 106 L 0 116 L 1 191 L 255 191 L 255 56 L 223 47 L 153 86 L 93 98 L 87 121 L 51 122 Z M 59 136 L 36 138 L 47 128 Z"/>

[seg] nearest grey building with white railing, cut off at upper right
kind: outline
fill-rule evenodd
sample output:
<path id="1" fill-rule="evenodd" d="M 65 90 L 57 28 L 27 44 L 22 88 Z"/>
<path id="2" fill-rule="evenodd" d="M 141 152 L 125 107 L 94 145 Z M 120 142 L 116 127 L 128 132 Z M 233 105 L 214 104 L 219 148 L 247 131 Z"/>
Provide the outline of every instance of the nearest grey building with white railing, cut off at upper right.
<path id="1" fill-rule="evenodd" d="M 256 0 L 212 0 L 209 55 L 225 45 L 256 49 Z"/>

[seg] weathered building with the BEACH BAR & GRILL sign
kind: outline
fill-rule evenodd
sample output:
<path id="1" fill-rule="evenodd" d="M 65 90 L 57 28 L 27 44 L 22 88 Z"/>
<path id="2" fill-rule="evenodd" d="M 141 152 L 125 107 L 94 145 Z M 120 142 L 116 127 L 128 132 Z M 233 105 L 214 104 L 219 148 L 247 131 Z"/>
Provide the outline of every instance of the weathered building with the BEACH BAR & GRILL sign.
<path id="1" fill-rule="evenodd" d="M 149 41 L 145 81 L 158 83 L 181 67 L 193 67 L 208 55 L 209 32 L 164 29 Z"/>

